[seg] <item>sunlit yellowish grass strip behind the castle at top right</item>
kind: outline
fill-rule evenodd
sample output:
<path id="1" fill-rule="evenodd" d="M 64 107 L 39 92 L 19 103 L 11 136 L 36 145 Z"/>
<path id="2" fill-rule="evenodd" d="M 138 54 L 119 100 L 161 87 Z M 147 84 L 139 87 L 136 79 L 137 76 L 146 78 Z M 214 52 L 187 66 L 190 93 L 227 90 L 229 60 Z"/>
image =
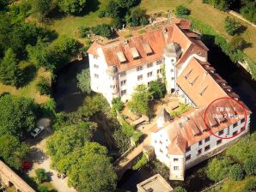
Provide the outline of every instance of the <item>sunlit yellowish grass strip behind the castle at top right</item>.
<path id="1" fill-rule="evenodd" d="M 191 15 L 203 21 L 210 27 L 213 27 L 217 32 L 222 33 L 228 39 L 231 39 L 228 33 L 224 29 L 224 20 L 229 13 L 222 12 L 218 9 L 214 9 L 209 4 L 202 3 L 202 0 L 142 0 L 142 3 L 139 7 L 146 9 L 148 14 L 159 12 L 161 10 L 174 10 L 175 7 L 179 4 L 184 4 L 188 9 L 191 10 Z M 230 15 L 229 15 L 230 16 Z M 245 53 L 248 57 L 256 61 L 256 28 L 248 25 L 246 22 L 241 21 L 235 18 L 237 21 L 240 21 L 241 24 L 247 27 L 247 30 L 241 34 L 241 36 L 249 43 L 252 43 L 252 47 L 247 48 Z"/>

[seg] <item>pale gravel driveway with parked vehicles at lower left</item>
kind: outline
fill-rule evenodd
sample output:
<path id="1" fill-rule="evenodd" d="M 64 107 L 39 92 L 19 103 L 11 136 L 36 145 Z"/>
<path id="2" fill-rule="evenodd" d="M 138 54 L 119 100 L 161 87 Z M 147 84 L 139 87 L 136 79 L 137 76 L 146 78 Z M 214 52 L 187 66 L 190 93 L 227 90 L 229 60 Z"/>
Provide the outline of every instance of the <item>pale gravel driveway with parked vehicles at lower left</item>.
<path id="1" fill-rule="evenodd" d="M 29 156 L 30 160 L 33 161 L 33 167 L 28 171 L 29 177 L 35 176 L 35 169 L 43 168 L 51 177 L 50 183 L 58 192 L 76 192 L 76 189 L 68 187 L 68 177 L 64 179 L 58 178 L 58 171 L 50 168 L 51 158 L 46 155 L 46 140 L 52 134 L 50 120 L 46 118 L 40 119 L 37 124 L 45 126 L 46 129 L 37 138 L 28 141 L 31 149 Z"/>

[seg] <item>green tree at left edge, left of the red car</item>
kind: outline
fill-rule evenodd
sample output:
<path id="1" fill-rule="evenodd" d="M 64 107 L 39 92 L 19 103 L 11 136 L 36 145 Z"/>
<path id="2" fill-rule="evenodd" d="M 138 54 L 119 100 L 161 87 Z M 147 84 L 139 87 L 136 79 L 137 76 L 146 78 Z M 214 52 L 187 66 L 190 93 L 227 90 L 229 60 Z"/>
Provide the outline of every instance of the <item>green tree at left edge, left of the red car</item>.
<path id="1" fill-rule="evenodd" d="M 1 128 L 1 126 L 0 126 Z M 28 147 L 15 136 L 0 135 L 0 157 L 10 166 L 19 170 L 28 152 Z"/>

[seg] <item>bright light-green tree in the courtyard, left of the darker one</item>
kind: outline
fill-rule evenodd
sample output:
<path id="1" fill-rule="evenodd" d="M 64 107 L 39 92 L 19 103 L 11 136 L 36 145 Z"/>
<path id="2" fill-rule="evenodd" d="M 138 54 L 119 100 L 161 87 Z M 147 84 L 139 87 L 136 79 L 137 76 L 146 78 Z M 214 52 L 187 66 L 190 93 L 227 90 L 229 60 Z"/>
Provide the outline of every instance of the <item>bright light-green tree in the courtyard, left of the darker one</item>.
<path id="1" fill-rule="evenodd" d="M 135 92 L 131 95 L 131 100 L 128 102 L 128 107 L 131 111 L 147 115 L 149 114 L 149 99 L 151 93 L 145 85 L 140 85 L 135 88 Z"/>

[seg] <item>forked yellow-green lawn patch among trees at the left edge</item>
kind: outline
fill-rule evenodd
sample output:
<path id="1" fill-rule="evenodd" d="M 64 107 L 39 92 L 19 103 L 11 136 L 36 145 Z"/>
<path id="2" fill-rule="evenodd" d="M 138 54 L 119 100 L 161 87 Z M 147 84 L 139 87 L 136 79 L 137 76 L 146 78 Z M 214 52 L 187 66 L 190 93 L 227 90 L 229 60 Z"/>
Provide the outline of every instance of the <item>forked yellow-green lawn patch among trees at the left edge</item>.
<path id="1" fill-rule="evenodd" d="M 39 104 L 45 103 L 49 99 L 49 97 L 46 95 L 42 96 L 36 91 L 36 84 L 40 80 L 40 76 L 50 76 L 50 73 L 47 72 L 45 69 L 39 69 L 36 73 L 36 76 L 34 77 L 34 80 L 30 81 L 27 86 L 21 88 L 6 86 L 0 83 L 0 94 L 6 92 L 17 96 L 32 98 L 35 100 L 35 102 Z"/>

